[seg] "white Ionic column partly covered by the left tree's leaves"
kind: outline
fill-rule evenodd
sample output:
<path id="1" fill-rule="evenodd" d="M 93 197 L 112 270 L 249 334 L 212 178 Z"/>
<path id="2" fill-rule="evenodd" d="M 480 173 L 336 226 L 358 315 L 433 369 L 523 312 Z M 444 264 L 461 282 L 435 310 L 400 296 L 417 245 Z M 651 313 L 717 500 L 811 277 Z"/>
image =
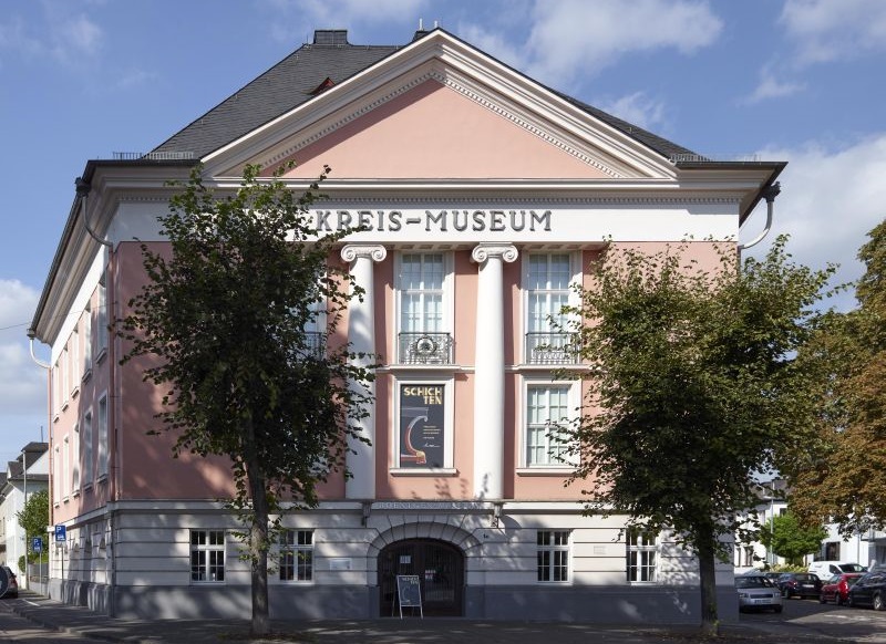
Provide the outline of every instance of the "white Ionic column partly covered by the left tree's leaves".
<path id="1" fill-rule="evenodd" d="M 383 246 L 348 245 L 341 249 L 341 259 L 351 264 L 350 274 L 353 284 L 363 289 L 362 301 L 354 298 L 348 303 L 348 341 L 351 351 L 370 356 L 360 361 L 362 366 L 372 364 L 375 354 L 375 308 L 373 262 L 382 261 L 388 256 Z M 369 383 L 370 395 L 375 395 L 375 385 Z M 367 409 L 365 418 L 352 420 L 360 434 L 369 439 L 369 445 L 350 439 L 348 443 L 347 467 L 351 472 L 344 484 L 344 496 L 348 499 L 372 499 L 375 497 L 375 409 L 374 403 Z"/>

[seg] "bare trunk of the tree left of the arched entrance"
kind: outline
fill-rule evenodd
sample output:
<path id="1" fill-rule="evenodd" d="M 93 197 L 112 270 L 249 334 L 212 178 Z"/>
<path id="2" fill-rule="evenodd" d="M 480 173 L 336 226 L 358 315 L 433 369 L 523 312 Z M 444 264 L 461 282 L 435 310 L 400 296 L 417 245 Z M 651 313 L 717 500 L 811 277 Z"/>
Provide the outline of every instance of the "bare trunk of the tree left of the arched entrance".
<path id="1" fill-rule="evenodd" d="M 247 436 L 251 438 L 254 427 Z M 265 475 L 256 457 L 253 445 L 247 439 L 246 477 L 253 501 L 251 524 L 249 527 L 249 560 L 251 562 L 253 621 L 249 627 L 253 636 L 270 632 L 268 606 L 268 498 Z"/>

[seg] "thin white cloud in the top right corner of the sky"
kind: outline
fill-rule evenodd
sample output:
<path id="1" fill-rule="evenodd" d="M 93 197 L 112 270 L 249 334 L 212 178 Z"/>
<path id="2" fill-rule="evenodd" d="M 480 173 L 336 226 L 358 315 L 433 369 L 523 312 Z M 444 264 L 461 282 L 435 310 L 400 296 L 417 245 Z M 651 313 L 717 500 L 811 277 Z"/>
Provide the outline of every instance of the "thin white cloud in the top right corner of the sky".
<path id="1" fill-rule="evenodd" d="M 779 20 L 797 48 L 800 64 L 886 49 L 883 0 L 787 0 Z"/>

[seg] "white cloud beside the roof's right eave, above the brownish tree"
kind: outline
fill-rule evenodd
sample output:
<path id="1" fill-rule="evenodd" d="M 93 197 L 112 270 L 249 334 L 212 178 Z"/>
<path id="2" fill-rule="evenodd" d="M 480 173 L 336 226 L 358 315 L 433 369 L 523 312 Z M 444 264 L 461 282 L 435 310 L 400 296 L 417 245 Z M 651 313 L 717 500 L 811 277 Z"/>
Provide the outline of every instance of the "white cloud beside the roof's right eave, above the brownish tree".
<path id="1" fill-rule="evenodd" d="M 789 251 L 812 268 L 841 264 L 836 282 L 862 276 L 856 258 L 867 233 L 886 218 L 886 133 L 837 152 L 808 144 L 800 149 L 766 149 L 761 157 L 787 160 L 780 177 L 782 194 L 775 200 L 773 235 L 791 236 Z M 762 206 L 761 206 L 762 208 Z M 742 239 L 759 232 L 759 215 Z M 753 253 L 765 252 L 765 242 Z M 851 298 L 846 299 L 846 303 Z"/>

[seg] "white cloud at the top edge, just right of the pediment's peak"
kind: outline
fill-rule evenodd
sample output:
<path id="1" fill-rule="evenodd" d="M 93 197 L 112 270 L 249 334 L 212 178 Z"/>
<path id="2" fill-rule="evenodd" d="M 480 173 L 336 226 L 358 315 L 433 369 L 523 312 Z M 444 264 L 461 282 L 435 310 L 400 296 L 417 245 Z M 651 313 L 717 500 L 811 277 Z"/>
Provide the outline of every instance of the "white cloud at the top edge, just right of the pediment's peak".
<path id="1" fill-rule="evenodd" d="M 550 85 L 593 75 L 632 52 L 691 54 L 723 29 L 700 0 L 537 0 L 530 21 L 528 74 Z"/>

